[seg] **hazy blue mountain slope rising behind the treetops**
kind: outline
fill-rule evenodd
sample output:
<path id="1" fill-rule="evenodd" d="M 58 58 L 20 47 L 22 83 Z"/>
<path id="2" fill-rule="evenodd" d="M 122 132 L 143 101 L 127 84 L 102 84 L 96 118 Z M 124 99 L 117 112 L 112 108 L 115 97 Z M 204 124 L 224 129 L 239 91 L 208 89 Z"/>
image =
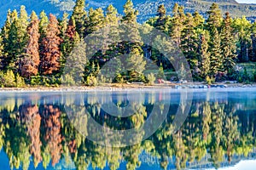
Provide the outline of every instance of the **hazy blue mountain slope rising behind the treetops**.
<path id="1" fill-rule="evenodd" d="M 113 4 L 122 14 L 123 5 L 126 0 L 87 0 L 87 9 L 106 8 L 109 4 Z M 212 3 L 218 3 L 223 13 L 229 11 L 233 17 L 247 16 L 249 20 L 256 20 L 256 3 L 255 4 L 240 4 L 235 0 L 133 0 L 135 8 L 139 10 L 138 21 L 143 22 L 149 17 L 153 17 L 157 7 L 160 4 L 165 4 L 167 14 L 172 14 L 174 3 L 179 3 L 185 8 L 185 12 L 193 13 L 198 10 L 201 14 L 205 14 Z M 8 9 L 19 9 L 20 5 L 25 5 L 28 14 L 35 10 L 39 14 L 43 9 L 49 14 L 55 14 L 59 17 L 64 12 L 71 13 L 75 0 L 2 0 L 0 1 L 0 25 L 3 26 Z"/>

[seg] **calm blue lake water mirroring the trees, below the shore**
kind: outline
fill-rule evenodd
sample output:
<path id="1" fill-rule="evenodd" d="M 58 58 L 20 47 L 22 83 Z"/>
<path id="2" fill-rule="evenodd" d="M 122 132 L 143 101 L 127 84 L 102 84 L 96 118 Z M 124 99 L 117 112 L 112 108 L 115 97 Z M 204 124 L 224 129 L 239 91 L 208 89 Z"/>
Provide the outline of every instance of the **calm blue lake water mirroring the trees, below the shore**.
<path id="1" fill-rule="evenodd" d="M 256 88 L 0 92 L 0 169 L 232 167 L 255 136 Z"/>

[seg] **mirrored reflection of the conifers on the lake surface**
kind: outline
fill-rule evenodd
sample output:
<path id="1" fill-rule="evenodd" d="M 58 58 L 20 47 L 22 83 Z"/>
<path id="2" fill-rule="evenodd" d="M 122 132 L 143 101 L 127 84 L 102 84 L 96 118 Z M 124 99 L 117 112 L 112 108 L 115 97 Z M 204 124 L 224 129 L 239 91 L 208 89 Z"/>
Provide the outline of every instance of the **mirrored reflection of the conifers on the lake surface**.
<path id="1" fill-rule="evenodd" d="M 3 95 L 0 98 L 0 149 L 9 157 L 10 168 L 23 169 L 29 168 L 31 158 L 34 167 L 42 163 L 44 168 L 117 169 L 125 162 L 127 169 L 135 169 L 142 163 L 159 164 L 162 168 L 172 164 L 181 169 L 200 166 L 203 161 L 212 167 L 221 167 L 225 162 L 232 163 L 233 157 L 247 157 L 253 152 L 256 116 L 251 114 L 255 109 L 250 105 L 255 105 L 255 99 L 230 99 L 232 93 L 222 98 L 213 94 L 213 97 L 204 94 L 202 98 L 195 95 L 189 116 L 176 133 L 172 133 L 172 121 L 178 107 L 178 93 L 171 94 L 175 101 L 170 105 L 166 122 L 147 140 L 111 148 L 86 139 L 87 130 L 92 127 L 87 126 L 88 115 L 84 113 L 111 129 L 137 128 L 147 120 L 160 95 L 145 92 L 140 99 L 132 99 L 130 94 L 113 94 L 112 104 L 117 106 L 118 113 L 131 105 L 134 114 L 127 117 L 108 114 L 105 110 L 110 101 L 104 95 L 67 94 L 65 98 L 58 94 Z M 63 102 L 79 119 L 67 116 Z M 85 135 L 73 126 L 78 124 Z M 106 135 L 111 133 L 106 131 Z M 141 159 L 141 156 L 151 158 Z"/>

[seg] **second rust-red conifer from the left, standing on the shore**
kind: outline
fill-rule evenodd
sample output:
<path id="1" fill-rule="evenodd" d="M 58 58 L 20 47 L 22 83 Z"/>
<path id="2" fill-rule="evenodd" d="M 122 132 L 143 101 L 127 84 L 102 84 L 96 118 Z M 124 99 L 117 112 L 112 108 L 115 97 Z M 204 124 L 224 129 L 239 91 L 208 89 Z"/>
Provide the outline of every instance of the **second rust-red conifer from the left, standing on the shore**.
<path id="1" fill-rule="evenodd" d="M 43 75 L 53 74 L 60 69 L 60 30 L 55 15 L 49 14 L 49 25 L 43 39 L 43 51 L 41 52 L 40 71 Z"/>

